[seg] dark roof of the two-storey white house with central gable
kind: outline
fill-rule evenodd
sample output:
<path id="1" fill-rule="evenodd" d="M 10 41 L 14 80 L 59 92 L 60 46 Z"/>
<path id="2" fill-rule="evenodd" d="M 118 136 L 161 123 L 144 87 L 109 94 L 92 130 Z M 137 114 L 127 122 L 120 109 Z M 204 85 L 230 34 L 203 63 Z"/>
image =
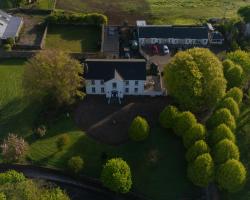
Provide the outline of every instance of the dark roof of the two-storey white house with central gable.
<path id="1" fill-rule="evenodd" d="M 146 80 L 146 61 L 143 59 L 87 59 L 85 79 Z"/>

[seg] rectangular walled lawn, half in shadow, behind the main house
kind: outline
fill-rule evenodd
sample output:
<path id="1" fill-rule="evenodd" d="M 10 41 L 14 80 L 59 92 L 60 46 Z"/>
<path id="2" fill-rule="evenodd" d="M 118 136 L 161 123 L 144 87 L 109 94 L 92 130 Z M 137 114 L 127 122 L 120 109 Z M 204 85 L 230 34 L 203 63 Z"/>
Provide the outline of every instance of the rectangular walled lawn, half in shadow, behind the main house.
<path id="1" fill-rule="evenodd" d="M 51 25 L 46 38 L 46 48 L 68 52 L 97 52 L 100 41 L 99 27 Z"/>

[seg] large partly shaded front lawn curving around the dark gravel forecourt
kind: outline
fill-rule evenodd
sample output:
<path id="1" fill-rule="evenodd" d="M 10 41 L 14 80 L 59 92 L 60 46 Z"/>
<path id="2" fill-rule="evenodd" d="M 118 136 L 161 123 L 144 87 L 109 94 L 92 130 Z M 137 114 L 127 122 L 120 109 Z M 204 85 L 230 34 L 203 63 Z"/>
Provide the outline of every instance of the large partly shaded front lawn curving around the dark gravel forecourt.
<path id="1" fill-rule="evenodd" d="M 41 105 L 25 98 L 21 79 L 25 60 L 0 62 L 0 140 L 9 132 L 25 137 L 30 144 L 28 160 L 36 165 L 65 168 L 71 156 L 80 155 L 85 161 L 83 173 L 99 178 L 108 158 L 122 157 L 133 173 L 133 188 L 152 199 L 183 199 L 196 193 L 186 178 L 186 162 L 181 141 L 162 129 L 154 129 L 144 143 L 129 142 L 118 147 L 95 142 L 80 131 L 71 117 L 62 114 L 47 125 L 47 134 L 38 139 L 32 134 L 34 121 Z M 70 143 L 59 151 L 57 138 L 67 134 Z"/>

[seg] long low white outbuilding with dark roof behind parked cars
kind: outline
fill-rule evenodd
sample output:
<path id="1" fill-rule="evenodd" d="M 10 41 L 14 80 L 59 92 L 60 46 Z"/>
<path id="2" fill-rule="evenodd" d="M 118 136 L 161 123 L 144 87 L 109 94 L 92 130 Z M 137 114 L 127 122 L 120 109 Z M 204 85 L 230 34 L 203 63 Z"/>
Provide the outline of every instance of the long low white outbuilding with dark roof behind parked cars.
<path id="1" fill-rule="evenodd" d="M 207 26 L 172 26 L 147 25 L 145 21 L 137 21 L 139 45 L 171 44 L 171 45 L 203 45 L 210 43 L 210 34 L 214 31 Z"/>

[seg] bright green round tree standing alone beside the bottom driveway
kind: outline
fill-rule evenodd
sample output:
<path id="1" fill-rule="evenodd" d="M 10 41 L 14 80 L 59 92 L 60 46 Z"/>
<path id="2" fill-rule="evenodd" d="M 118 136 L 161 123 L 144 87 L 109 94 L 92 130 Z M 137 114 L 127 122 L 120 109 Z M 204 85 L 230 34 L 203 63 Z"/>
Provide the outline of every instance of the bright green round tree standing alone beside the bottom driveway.
<path id="1" fill-rule="evenodd" d="M 103 185 L 114 192 L 128 193 L 132 186 L 131 171 L 121 158 L 107 161 L 101 173 Z"/>

